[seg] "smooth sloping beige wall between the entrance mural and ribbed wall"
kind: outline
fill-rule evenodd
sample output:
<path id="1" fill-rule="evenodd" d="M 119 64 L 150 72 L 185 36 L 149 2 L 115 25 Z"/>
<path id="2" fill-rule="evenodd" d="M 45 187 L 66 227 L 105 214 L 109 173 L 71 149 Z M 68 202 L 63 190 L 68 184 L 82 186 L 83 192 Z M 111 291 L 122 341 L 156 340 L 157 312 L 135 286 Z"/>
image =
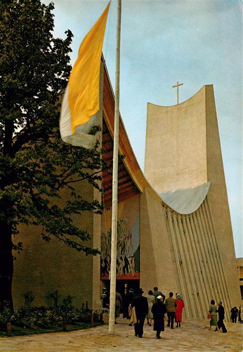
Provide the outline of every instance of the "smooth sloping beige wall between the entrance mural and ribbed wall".
<path id="1" fill-rule="evenodd" d="M 140 285 L 146 294 L 157 286 L 168 296 L 179 290 L 162 202 L 149 186 L 140 197 Z"/>

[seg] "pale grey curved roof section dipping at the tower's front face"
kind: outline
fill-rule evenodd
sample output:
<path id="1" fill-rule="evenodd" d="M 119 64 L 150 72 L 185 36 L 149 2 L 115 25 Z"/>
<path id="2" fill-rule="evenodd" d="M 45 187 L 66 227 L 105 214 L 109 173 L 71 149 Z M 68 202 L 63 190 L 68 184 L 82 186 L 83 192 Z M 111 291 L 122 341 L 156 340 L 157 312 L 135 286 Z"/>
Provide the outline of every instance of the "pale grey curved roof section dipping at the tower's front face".
<path id="1" fill-rule="evenodd" d="M 179 214 L 191 214 L 197 210 L 204 201 L 211 181 L 185 190 L 169 191 L 159 193 L 160 198 L 170 208 Z"/>

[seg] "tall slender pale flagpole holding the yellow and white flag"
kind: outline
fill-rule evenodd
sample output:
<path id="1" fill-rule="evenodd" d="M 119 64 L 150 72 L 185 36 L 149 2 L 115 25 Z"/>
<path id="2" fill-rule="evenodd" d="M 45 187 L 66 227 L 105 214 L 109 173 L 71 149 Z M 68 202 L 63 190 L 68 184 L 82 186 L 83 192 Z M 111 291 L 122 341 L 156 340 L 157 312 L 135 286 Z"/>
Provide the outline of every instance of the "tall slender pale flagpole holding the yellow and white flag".
<path id="1" fill-rule="evenodd" d="M 116 281 L 116 230 L 117 230 L 117 172 L 119 146 L 119 74 L 120 74 L 120 20 L 121 0 L 118 0 L 116 25 L 116 59 L 115 59 L 115 110 L 114 110 L 114 146 L 112 170 L 112 218 L 111 218 L 111 254 L 110 254 L 110 304 L 109 334 L 114 334 L 115 317 L 115 281 Z"/>

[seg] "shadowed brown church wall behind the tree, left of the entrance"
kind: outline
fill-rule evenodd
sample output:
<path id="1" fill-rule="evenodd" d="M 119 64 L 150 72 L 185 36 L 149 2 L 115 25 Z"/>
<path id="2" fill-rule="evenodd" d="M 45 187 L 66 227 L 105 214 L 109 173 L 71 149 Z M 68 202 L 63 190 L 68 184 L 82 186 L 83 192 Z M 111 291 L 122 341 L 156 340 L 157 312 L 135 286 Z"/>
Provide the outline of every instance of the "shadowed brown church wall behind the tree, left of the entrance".
<path id="1" fill-rule="evenodd" d="M 100 110 L 97 113 L 98 124 L 102 127 L 103 102 L 103 63 L 100 70 Z M 97 134 L 102 140 L 102 131 Z M 100 143 L 101 146 L 101 143 Z M 75 184 L 77 193 L 91 202 L 97 199 L 101 202 L 101 193 L 87 182 Z M 68 200 L 68 193 L 60 192 L 59 205 L 63 206 Z M 84 242 L 85 246 L 100 249 L 101 215 L 84 212 L 73 216 L 76 226 L 88 231 L 91 239 Z M 35 305 L 45 304 L 45 295 L 58 290 L 64 295 L 75 296 L 73 303 L 81 306 L 88 302 L 89 308 L 96 307 L 96 300 L 100 299 L 100 255 L 85 255 L 69 248 L 55 238 L 46 243 L 41 236 L 41 228 L 37 226 L 19 227 L 20 235 L 16 241 L 23 242 L 23 251 L 17 255 L 14 262 L 13 300 L 14 305 L 23 304 L 23 294 L 32 290 L 35 295 Z"/>

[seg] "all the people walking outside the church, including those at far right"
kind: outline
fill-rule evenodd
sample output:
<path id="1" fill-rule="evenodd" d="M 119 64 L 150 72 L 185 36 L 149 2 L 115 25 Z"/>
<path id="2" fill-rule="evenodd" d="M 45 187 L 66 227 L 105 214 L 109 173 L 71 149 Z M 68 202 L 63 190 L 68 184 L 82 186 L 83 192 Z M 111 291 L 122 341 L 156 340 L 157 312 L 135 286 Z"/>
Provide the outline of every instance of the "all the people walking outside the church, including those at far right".
<path id="1" fill-rule="evenodd" d="M 124 318 L 130 320 L 129 325 L 134 324 L 135 336 L 143 337 L 144 334 L 144 322 L 147 318 L 147 323 L 149 326 L 152 326 L 152 320 L 154 320 L 154 331 L 156 331 L 156 337 L 160 337 L 161 331 L 165 330 L 165 315 L 167 313 L 168 322 L 167 326 L 171 329 L 174 329 L 174 321 L 176 322 L 176 327 L 181 327 L 182 321 L 182 311 L 185 307 L 182 297 L 177 293 L 176 298 L 173 298 L 173 292 L 169 293 L 169 297 L 158 290 L 157 287 L 154 287 L 154 291 L 149 290 L 148 296 L 143 296 L 144 291 L 140 288 L 137 293 L 133 288 L 129 289 L 128 294 L 124 299 Z M 106 296 L 107 297 L 107 296 Z M 104 299 L 103 299 L 104 304 Z M 108 302 L 106 302 L 108 304 Z M 123 300 L 121 295 L 115 293 L 115 324 L 116 318 L 120 314 L 120 308 L 123 305 Z M 224 325 L 224 307 L 222 302 L 218 302 L 217 306 L 214 300 L 211 300 L 209 306 L 209 318 L 211 330 L 212 326 L 215 326 L 214 331 L 222 330 L 223 333 L 227 332 L 227 329 Z M 237 317 L 238 322 L 242 323 L 243 321 L 243 311 L 241 306 L 239 309 L 233 307 L 230 311 L 232 322 L 236 323 Z M 218 319 L 217 319 L 218 314 Z"/>

